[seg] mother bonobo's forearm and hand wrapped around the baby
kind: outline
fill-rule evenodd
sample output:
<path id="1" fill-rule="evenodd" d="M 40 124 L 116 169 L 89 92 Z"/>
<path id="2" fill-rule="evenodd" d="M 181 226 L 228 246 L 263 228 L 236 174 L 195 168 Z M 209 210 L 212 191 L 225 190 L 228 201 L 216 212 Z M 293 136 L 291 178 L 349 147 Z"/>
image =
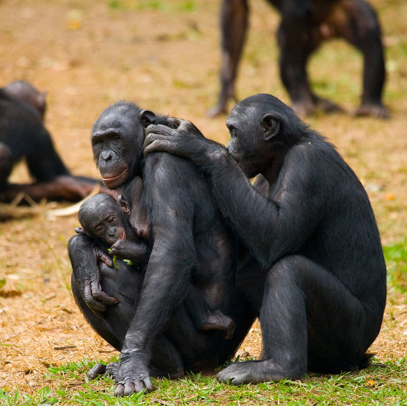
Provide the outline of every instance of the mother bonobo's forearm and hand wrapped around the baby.
<path id="1" fill-rule="evenodd" d="M 79 286 L 81 296 L 89 308 L 100 318 L 106 305 L 116 304 L 117 300 L 100 290 L 100 272 L 98 260 L 112 266 L 111 258 L 106 255 L 88 236 L 76 235 L 68 243 L 73 277 Z"/>

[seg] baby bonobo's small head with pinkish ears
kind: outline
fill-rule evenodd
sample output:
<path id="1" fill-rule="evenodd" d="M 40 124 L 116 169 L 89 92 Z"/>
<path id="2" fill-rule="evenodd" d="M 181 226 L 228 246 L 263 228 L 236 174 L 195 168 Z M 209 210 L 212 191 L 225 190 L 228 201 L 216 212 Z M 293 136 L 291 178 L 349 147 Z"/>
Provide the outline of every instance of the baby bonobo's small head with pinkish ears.
<path id="1" fill-rule="evenodd" d="M 77 227 L 75 231 L 110 247 L 116 241 L 133 235 L 129 214 L 129 205 L 123 196 L 116 201 L 108 194 L 99 193 L 80 206 L 78 219 L 83 228 Z"/>

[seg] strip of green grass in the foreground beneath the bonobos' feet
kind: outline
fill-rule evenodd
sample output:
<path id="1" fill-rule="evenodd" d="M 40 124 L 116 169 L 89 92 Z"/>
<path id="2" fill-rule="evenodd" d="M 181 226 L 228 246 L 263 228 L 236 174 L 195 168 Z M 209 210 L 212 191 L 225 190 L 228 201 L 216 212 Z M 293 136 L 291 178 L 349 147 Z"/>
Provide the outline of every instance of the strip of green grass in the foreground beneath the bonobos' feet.
<path id="1" fill-rule="evenodd" d="M 0 390 L 4 406 L 46 405 L 393 405 L 407 404 L 407 367 L 405 358 L 385 366 L 373 363 L 358 372 L 338 375 L 311 374 L 303 381 L 280 381 L 257 385 L 231 386 L 220 384 L 214 375 L 189 374 L 179 381 L 154 380 L 157 391 L 116 398 L 111 379 L 89 382 L 85 372 L 94 362 L 83 360 L 49 368 L 49 377 L 59 381 L 60 389 L 43 388 L 26 395 L 14 389 Z M 82 382 L 70 389 L 72 381 Z"/>

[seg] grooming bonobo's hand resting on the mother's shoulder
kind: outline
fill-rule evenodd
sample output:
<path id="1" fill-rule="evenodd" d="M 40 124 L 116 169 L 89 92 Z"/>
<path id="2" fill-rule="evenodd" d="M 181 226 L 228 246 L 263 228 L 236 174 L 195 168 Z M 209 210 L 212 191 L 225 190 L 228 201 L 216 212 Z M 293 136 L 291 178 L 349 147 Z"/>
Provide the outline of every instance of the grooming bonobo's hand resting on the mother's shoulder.
<path id="1" fill-rule="evenodd" d="M 205 160 L 212 153 L 216 142 L 205 138 L 189 121 L 169 119 L 176 129 L 150 124 L 146 129 L 144 156 L 153 151 L 166 151 L 190 158 L 195 162 Z"/>

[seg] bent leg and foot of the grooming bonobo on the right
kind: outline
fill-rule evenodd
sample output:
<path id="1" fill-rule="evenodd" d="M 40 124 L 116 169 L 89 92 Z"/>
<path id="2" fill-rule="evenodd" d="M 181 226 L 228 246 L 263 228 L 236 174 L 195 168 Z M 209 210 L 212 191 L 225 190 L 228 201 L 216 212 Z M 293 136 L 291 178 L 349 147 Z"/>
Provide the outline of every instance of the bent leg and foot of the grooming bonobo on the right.
<path id="1" fill-rule="evenodd" d="M 231 364 L 217 378 L 239 385 L 365 367 L 380 313 L 308 258 L 285 256 L 266 278 L 259 317 L 263 359 Z"/>

